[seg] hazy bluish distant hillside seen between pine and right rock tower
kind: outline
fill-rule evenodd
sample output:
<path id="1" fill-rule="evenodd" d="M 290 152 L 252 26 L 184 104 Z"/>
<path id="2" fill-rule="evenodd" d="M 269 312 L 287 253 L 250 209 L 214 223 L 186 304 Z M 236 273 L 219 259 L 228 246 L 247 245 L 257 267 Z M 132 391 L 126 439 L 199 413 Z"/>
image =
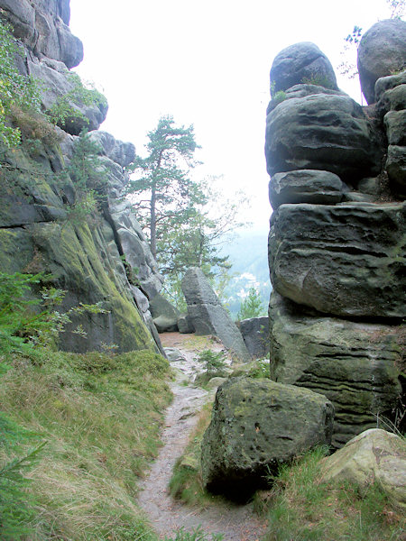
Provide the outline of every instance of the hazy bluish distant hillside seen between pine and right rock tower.
<path id="1" fill-rule="evenodd" d="M 232 263 L 233 279 L 225 289 L 226 304 L 234 318 L 242 299 L 254 286 L 263 300 L 263 315 L 268 311 L 271 282 L 268 268 L 268 232 L 247 230 L 239 233 L 221 250 Z"/>

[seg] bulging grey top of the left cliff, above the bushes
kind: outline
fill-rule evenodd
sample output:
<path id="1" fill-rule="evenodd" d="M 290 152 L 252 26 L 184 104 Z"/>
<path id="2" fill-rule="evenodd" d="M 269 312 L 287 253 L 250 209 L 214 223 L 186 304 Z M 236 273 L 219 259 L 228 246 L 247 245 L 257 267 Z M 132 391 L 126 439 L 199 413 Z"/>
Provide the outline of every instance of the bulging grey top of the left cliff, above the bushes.
<path id="1" fill-rule="evenodd" d="M 67 101 L 71 112 L 58 120 L 60 128 L 73 135 L 97 130 L 106 119 L 107 102 L 96 90 L 84 92 L 78 76 L 69 72 L 83 60 L 82 42 L 68 26 L 69 0 L 0 0 L 0 8 L 21 42 L 18 69 L 42 81 L 43 110 Z"/>

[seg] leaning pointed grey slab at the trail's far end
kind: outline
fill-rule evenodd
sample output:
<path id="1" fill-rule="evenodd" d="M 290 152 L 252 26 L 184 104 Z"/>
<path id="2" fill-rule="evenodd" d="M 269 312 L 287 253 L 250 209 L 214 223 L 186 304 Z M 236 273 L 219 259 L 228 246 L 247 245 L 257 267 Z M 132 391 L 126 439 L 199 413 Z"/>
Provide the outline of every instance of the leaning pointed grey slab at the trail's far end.
<path id="1" fill-rule="evenodd" d="M 197 267 L 189 269 L 182 280 L 191 325 L 197 335 L 215 335 L 241 361 L 249 361 L 240 331 L 221 306 L 207 278 Z"/>

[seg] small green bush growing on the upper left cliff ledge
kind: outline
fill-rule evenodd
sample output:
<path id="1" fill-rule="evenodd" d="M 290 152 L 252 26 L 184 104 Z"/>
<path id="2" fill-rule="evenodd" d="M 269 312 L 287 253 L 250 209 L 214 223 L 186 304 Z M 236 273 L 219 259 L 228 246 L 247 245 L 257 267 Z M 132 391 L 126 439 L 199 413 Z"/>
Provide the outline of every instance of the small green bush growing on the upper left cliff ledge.
<path id="1" fill-rule="evenodd" d="M 88 124 L 87 116 L 75 105 L 106 106 L 106 97 L 94 87 L 85 87 L 77 73 L 67 71 L 66 76 L 73 88 L 63 96 L 58 97 L 57 101 L 46 111 L 46 115 L 52 124 L 58 124 L 61 128 L 66 127 L 67 123 L 75 122 L 77 119 Z"/>

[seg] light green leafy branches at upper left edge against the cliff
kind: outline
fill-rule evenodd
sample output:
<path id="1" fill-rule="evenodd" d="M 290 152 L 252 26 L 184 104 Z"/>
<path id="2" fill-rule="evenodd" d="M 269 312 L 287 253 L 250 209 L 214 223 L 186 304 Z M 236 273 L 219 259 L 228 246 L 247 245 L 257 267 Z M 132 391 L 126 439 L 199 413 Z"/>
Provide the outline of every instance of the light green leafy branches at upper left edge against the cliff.
<path id="1" fill-rule="evenodd" d="M 0 16 L 0 143 L 7 148 L 15 147 L 21 140 L 19 128 L 11 127 L 7 120 L 13 107 L 23 111 L 40 110 L 38 85 L 15 67 L 14 56 L 19 54 L 20 48 L 11 30 Z"/>

